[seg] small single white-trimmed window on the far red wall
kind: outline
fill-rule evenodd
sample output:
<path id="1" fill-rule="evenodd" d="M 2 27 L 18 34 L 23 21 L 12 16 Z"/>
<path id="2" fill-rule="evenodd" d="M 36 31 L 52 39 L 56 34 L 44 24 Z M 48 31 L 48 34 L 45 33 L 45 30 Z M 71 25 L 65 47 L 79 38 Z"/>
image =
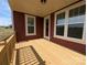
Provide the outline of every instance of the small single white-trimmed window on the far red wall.
<path id="1" fill-rule="evenodd" d="M 26 35 L 34 35 L 35 34 L 35 17 L 25 15 L 26 20 Z"/>

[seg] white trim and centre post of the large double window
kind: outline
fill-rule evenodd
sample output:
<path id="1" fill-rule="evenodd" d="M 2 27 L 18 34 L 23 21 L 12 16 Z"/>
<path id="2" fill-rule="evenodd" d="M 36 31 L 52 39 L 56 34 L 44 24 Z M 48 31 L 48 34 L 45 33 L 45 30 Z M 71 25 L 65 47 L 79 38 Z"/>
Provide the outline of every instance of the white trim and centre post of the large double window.
<path id="1" fill-rule="evenodd" d="M 54 37 L 85 44 L 85 41 L 86 41 L 86 39 L 85 39 L 85 35 L 86 35 L 86 33 L 85 33 L 85 30 L 86 30 L 85 29 L 85 25 L 84 25 L 84 31 L 83 31 L 83 39 L 75 39 L 75 37 L 68 37 L 67 36 L 67 30 L 68 30 L 68 12 L 69 12 L 70 9 L 74 9 L 76 7 L 80 7 L 83 4 L 85 4 L 85 1 L 78 2 L 78 3 L 74 4 L 74 6 L 70 6 L 70 7 L 68 7 L 66 9 L 63 9 L 63 10 L 61 10 L 58 12 L 55 12 L 55 15 L 54 15 Z M 62 12 L 65 12 L 64 36 L 56 35 L 56 15 L 59 14 L 59 13 L 62 13 Z"/>

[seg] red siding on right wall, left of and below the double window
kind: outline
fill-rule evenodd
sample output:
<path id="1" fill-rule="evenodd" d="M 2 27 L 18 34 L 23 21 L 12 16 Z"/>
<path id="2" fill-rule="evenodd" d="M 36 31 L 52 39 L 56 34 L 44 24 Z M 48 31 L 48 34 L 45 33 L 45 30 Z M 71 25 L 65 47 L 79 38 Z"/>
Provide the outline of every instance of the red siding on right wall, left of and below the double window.
<path id="1" fill-rule="evenodd" d="M 70 41 L 66 41 L 66 40 L 62 40 L 62 39 L 56 39 L 56 37 L 53 37 L 53 35 L 54 35 L 54 13 L 51 14 L 51 41 L 56 43 L 56 44 L 66 46 L 70 50 L 74 50 L 76 52 L 79 52 L 83 54 L 86 53 L 86 45 L 70 42 Z"/>

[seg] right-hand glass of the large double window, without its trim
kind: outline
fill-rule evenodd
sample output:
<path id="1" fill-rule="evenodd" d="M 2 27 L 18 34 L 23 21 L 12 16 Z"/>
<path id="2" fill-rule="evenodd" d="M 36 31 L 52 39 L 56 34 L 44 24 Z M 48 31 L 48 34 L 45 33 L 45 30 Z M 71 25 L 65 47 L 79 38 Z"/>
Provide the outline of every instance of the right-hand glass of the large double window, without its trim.
<path id="1" fill-rule="evenodd" d="M 86 6 L 81 6 L 69 11 L 69 22 L 67 36 L 81 39 L 85 22 Z"/>

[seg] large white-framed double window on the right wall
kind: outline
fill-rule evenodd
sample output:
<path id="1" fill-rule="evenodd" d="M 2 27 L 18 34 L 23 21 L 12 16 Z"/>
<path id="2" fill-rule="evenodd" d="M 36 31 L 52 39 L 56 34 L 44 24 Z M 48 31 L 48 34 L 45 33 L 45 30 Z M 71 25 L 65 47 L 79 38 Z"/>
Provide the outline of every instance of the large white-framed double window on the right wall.
<path id="1" fill-rule="evenodd" d="M 86 4 L 80 2 L 55 13 L 54 37 L 85 43 Z"/>

